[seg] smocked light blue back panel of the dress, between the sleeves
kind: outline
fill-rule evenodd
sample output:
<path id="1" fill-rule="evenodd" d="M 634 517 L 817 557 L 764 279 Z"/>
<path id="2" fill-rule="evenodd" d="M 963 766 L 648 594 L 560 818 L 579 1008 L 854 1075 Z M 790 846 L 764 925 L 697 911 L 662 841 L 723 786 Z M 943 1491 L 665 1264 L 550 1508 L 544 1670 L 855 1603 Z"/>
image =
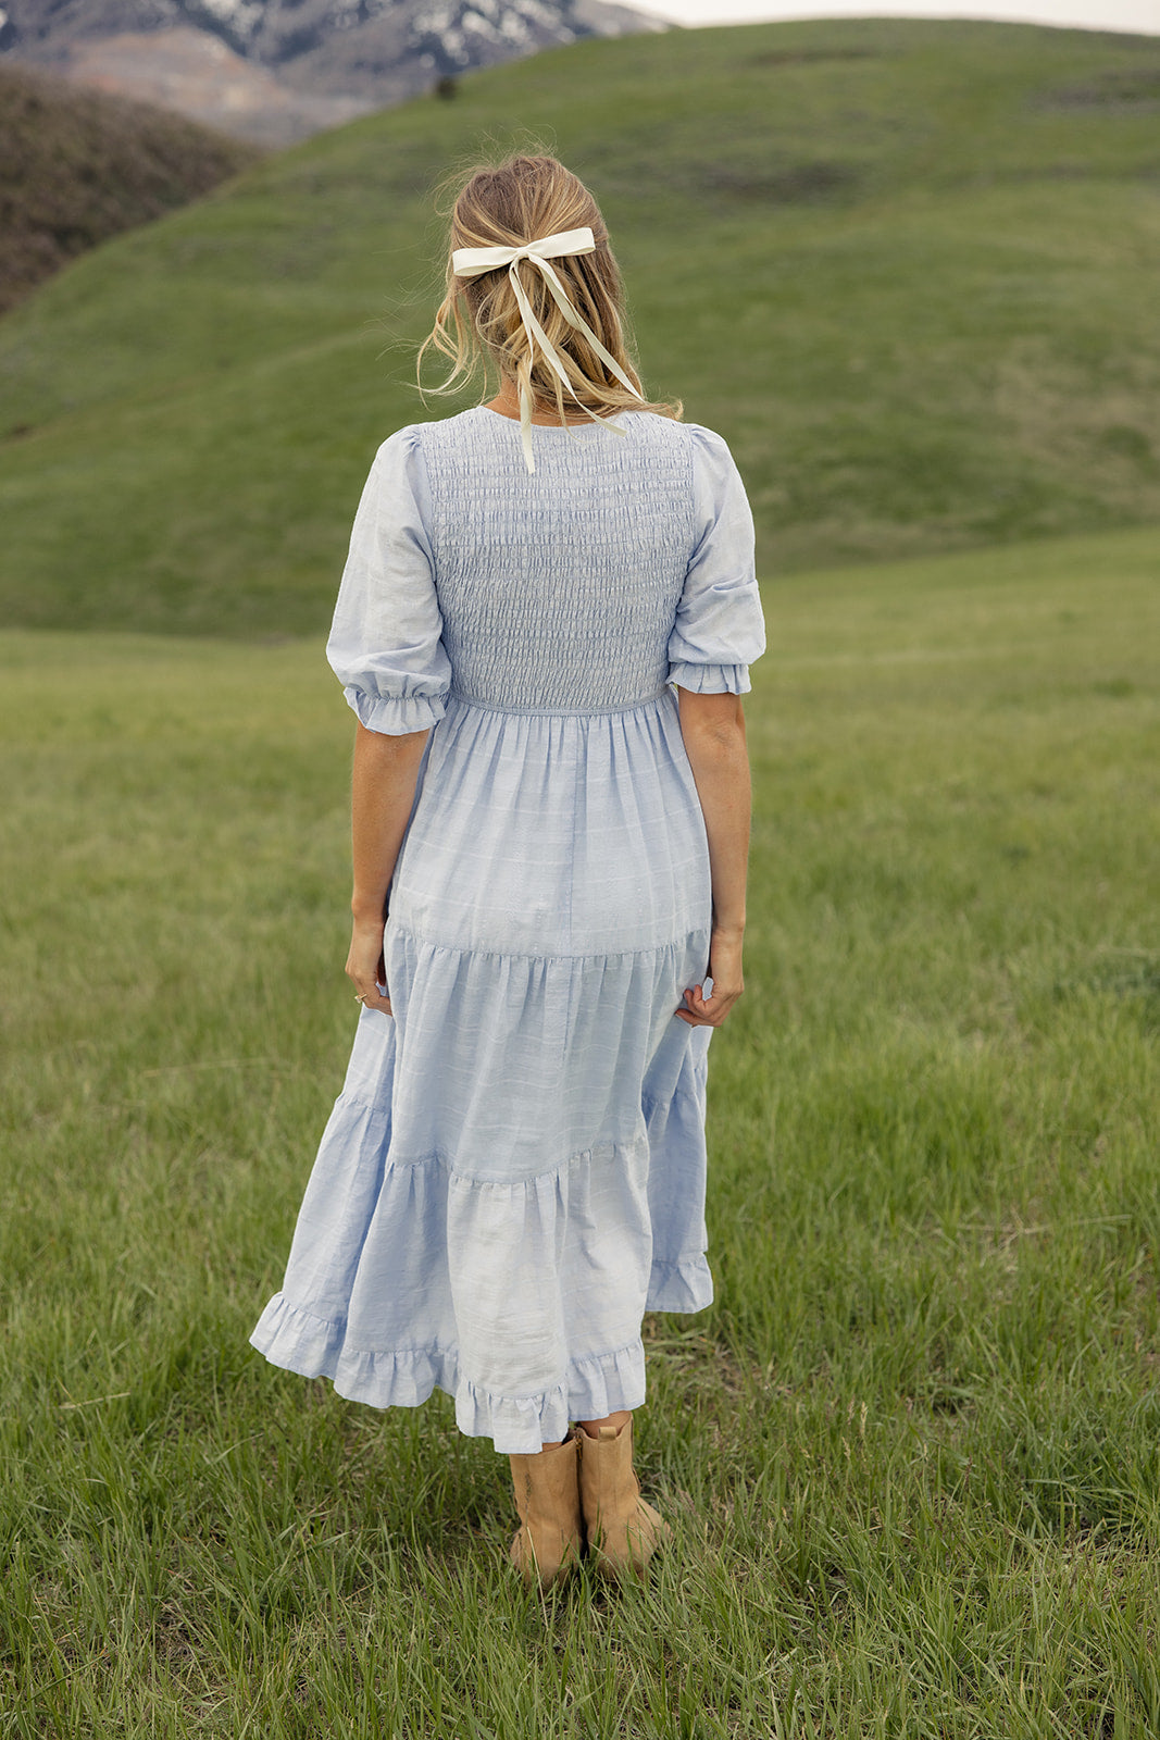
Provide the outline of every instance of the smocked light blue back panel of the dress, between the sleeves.
<path id="1" fill-rule="evenodd" d="M 694 543 L 692 449 L 656 416 L 633 438 L 490 411 L 423 437 L 424 515 L 452 693 L 511 712 L 635 706 L 668 679 Z"/>

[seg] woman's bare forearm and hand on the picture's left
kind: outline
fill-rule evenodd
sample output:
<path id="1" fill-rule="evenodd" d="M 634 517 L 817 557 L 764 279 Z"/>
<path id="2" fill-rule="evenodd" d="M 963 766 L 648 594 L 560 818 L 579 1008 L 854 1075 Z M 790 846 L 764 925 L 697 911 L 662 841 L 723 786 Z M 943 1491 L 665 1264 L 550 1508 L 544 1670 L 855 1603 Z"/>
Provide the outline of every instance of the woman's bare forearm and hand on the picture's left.
<path id="1" fill-rule="evenodd" d="M 390 995 L 379 995 L 383 966 L 383 914 L 395 875 L 395 860 L 407 832 L 416 797 L 419 762 L 430 731 L 388 736 L 355 727 L 355 774 L 351 780 L 351 941 L 346 976 L 367 1009 L 391 1013 Z"/>

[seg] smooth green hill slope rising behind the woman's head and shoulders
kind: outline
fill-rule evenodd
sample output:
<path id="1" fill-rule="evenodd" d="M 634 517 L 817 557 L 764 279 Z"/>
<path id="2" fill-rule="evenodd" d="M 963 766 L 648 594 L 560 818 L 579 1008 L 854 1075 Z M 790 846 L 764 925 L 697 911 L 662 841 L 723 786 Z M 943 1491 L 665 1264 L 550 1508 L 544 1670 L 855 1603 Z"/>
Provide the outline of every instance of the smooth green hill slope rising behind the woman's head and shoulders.
<path id="1" fill-rule="evenodd" d="M 0 621 L 317 632 L 424 416 L 431 186 L 527 130 L 602 197 L 767 571 L 1160 520 L 1157 90 L 1157 38 L 821 21 L 583 42 L 313 139 L 0 322 Z"/>

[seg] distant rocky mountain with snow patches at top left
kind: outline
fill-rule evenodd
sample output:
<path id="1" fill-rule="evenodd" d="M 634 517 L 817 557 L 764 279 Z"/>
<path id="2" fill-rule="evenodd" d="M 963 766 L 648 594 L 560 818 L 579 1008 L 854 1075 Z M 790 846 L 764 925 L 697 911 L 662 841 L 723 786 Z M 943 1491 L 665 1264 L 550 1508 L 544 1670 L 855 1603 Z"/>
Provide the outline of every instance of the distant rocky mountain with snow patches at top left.
<path id="1" fill-rule="evenodd" d="M 584 37 L 663 26 L 605 0 L 5 0 L 0 54 L 263 144 Z"/>

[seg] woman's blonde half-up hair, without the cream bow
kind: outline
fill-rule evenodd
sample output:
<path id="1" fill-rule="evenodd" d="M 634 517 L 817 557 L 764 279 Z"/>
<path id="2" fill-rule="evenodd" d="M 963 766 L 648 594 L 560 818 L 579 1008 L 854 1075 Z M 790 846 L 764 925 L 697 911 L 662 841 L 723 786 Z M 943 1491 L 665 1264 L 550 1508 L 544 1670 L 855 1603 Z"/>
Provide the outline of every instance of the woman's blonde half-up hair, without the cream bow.
<path id="1" fill-rule="evenodd" d="M 450 212 L 447 294 L 419 350 L 416 364 L 419 385 L 423 386 L 423 358 L 428 350 L 437 350 L 450 358 L 452 371 L 430 392 L 456 392 L 457 386 L 470 385 L 490 362 L 501 378 L 515 381 L 517 390 L 529 388 L 537 411 L 548 409 L 555 400 L 562 423 L 569 418 L 569 407 L 576 414 L 572 397 L 565 400 L 563 383 L 539 350 L 532 353 L 508 268 L 497 266 L 478 278 L 457 278 L 450 256 L 457 247 L 520 247 L 523 242 L 536 242 L 562 230 L 590 228 L 597 240 L 595 252 L 569 254 L 553 259 L 553 266 L 576 311 L 630 381 L 640 388 L 640 376 L 626 348 L 624 287 L 619 266 L 609 247 L 600 207 L 583 181 L 555 157 L 513 155 L 494 167 L 471 169 L 466 176 L 456 177 L 454 184 L 459 186 L 459 193 Z M 623 381 L 617 381 L 584 334 L 560 313 L 537 271 L 523 277 L 523 287 L 581 405 L 598 418 L 614 416 L 617 411 L 680 416 L 678 400 L 654 404 L 643 398 L 643 393 L 637 398 Z"/>

